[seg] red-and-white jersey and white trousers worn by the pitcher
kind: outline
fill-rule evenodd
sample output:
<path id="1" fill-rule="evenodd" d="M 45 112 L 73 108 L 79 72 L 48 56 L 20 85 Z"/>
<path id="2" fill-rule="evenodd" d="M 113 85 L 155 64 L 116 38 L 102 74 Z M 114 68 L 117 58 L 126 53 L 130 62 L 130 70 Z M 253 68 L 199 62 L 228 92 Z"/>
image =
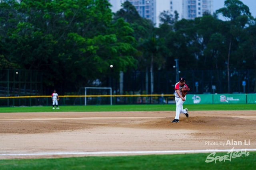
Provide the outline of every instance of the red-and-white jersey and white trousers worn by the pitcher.
<path id="1" fill-rule="evenodd" d="M 188 87 L 185 83 L 184 83 L 184 86 Z M 182 87 L 184 87 L 184 86 L 182 86 Z M 185 100 L 182 101 L 181 98 L 178 96 L 177 91 L 176 91 L 177 89 L 179 89 L 180 94 L 181 94 L 181 88 L 182 87 L 180 86 L 179 82 L 175 84 L 175 88 L 174 88 L 174 90 L 175 90 L 174 96 L 175 96 L 175 103 L 176 103 L 176 117 L 175 117 L 175 119 L 180 119 L 180 113 L 183 113 L 183 114 L 187 113 L 187 110 L 183 109 L 183 103 L 185 102 L 187 96 L 185 96 L 184 97 Z"/>

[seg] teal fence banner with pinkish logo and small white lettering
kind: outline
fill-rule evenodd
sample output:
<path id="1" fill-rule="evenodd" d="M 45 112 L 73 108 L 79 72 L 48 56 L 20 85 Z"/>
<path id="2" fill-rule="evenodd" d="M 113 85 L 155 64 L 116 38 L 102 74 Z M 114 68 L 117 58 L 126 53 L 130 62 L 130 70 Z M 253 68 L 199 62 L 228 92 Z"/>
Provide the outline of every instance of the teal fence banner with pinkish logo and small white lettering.
<path id="1" fill-rule="evenodd" d="M 214 94 L 214 104 L 246 104 L 246 94 Z"/>

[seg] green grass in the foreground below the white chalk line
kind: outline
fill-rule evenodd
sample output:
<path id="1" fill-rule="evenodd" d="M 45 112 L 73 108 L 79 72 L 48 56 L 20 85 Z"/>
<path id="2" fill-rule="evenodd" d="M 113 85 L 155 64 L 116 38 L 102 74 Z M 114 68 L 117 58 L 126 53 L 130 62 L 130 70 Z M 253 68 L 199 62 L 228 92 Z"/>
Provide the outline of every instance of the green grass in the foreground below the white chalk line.
<path id="1" fill-rule="evenodd" d="M 240 153 L 240 152 L 239 152 Z M 247 152 L 248 153 L 248 152 Z M 0 160 L 1 170 L 254 170 L 256 152 L 206 163 L 210 153 Z M 227 152 L 216 156 L 230 155 Z"/>

